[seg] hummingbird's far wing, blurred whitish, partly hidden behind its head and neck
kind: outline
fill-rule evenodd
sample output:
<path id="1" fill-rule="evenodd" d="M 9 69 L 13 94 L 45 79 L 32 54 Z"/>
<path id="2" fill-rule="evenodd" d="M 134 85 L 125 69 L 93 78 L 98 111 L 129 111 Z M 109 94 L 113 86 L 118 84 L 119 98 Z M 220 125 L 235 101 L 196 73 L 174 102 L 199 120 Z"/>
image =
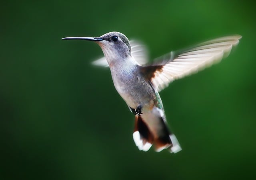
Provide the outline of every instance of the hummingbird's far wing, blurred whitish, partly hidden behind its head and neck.
<path id="1" fill-rule="evenodd" d="M 148 51 L 146 49 L 146 46 L 135 40 L 130 41 L 130 45 L 132 48 L 132 57 L 134 57 L 138 64 L 145 65 L 146 63 L 148 63 Z M 95 66 L 108 67 L 108 62 L 105 57 L 93 61 L 92 64 Z"/>

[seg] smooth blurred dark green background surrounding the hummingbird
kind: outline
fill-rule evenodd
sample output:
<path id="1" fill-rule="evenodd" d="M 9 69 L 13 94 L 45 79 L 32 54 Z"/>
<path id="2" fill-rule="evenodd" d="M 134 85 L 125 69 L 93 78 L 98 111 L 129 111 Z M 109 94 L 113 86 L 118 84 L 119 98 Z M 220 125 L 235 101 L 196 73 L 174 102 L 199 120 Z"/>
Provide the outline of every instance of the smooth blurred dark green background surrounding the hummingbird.
<path id="1" fill-rule="evenodd" d="M 0 179 L 255 179 L 256 12 L 251 1 L 6 1 L 0 18 Z M 92 42 L 120 31 L 151 59 L 240 34 L 230 56 L 160 95 L 183 150 L 142 152 L 134 115 Z"/>

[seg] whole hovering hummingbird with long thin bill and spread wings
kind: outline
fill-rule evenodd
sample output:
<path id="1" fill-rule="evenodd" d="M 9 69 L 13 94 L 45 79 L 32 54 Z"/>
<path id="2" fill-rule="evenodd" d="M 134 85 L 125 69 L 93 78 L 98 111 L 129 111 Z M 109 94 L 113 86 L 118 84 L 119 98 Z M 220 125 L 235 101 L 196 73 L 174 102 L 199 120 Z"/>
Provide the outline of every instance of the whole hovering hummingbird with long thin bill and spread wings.
<path id="1" fill-rule="evenodd" d="M 168 149 L 178 153 L 180 144 L 168 128 L 159 92 L 174 80 L 196 73 L 227 57 L 241 35 L 220 37 L 182 51 L 170 53 L 148 63 L 145 46 L 129 41 L 120 32 L 109 32 L 100 37 L 65 37 L 97 43 L 104 57 L 94 65 L 110 68 L 114 86 L 128 108 L 135 115 L 133 139 L 139 150 Z"/>

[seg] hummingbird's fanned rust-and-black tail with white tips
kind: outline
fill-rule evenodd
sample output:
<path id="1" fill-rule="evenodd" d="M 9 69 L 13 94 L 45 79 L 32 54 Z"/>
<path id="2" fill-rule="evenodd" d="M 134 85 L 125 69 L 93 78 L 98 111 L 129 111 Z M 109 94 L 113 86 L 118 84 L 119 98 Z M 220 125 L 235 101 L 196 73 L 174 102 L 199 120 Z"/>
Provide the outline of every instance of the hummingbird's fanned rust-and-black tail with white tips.
<path id="1" fill-rule="evenodd" d="M 171 153 L 178 153 L 181 150 L 177 138 L 168 130 L 163 113 L 146 112 L 136 115 L 133 139 L 138 149 L 143 151 L 148 151 L 152 144 L 157 152 L 170 149 Z"/>

